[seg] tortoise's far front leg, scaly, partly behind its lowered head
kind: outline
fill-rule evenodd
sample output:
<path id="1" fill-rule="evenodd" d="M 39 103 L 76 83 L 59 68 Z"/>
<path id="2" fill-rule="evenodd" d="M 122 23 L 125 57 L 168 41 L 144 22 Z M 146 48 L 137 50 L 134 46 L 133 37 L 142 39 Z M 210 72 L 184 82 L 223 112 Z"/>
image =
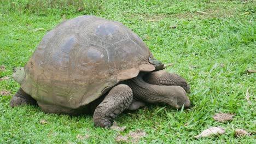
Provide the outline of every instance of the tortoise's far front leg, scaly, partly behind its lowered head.
<path id="1" fill-rule="evenodd" d="M 145 75 L 144 81 L 159 86 L 181 86 L 186 92 L 190 92 L 190 86 L 183 77 L 177 74 L 168 73 L 165 70 L 153 71 L 152 73 Z"/>

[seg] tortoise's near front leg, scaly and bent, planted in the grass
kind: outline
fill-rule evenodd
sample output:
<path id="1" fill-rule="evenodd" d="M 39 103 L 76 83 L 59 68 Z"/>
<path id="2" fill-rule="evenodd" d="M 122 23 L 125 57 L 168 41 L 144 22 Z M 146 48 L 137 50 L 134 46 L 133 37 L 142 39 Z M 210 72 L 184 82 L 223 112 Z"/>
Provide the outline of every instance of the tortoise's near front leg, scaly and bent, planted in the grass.
<path id="1" fill-rule="evenodd" d="M 132 102 L 132 90 L 120 84 L 113 87 L 94 111 L 94 124 L 98 127 L 110 127 L 113 119 L 126 110 Z"/>

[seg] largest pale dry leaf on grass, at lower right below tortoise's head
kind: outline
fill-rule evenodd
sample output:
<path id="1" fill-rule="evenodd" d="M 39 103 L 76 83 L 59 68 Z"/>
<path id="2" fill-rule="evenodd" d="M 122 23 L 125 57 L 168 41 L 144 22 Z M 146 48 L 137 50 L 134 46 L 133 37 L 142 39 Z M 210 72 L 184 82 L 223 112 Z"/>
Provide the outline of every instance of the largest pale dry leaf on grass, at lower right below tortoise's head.
<path id="1" fill-rule="evenodd" d="M 195 138 L 199 137 L 206 137 L 206 136 L 211 136 L 211 135 L 222 135 L 226 131 L 224 128 L 220 127 L 213 127 L 213 128 L 208 128 L 206 130 L 203 130 L 201 134 L 194 136 Z"/>

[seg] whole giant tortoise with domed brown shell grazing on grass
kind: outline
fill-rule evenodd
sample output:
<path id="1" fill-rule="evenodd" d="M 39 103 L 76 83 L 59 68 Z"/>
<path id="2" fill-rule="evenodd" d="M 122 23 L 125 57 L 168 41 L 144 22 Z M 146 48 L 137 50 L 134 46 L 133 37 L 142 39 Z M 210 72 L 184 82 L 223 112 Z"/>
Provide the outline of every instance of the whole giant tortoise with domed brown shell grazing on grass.
<path id="1" fill-rule="evenodd" d="M 21 85 L 11 107 L 38 104 L 47 113 L 93 113 L 109 127 L 145 103 L 189 107 L 188 83 L 162 70 L 143 40 L 117 21 L 84 15 L 61 22 L 13 77 Z"/>

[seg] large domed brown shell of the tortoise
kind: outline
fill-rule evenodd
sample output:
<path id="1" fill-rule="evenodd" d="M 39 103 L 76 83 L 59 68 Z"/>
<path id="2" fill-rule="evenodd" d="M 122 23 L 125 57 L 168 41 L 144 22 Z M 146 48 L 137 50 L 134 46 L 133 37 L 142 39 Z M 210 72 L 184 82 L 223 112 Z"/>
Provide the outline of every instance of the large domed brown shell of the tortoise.
<path id="1" fill-rule="evenodd" d="M 79 16 L 44 36 L 21 87 L 40 104 L 77 109 L 139 71 L 153 71 L 150 56 L 143 40 L 120 22 Z"/>

